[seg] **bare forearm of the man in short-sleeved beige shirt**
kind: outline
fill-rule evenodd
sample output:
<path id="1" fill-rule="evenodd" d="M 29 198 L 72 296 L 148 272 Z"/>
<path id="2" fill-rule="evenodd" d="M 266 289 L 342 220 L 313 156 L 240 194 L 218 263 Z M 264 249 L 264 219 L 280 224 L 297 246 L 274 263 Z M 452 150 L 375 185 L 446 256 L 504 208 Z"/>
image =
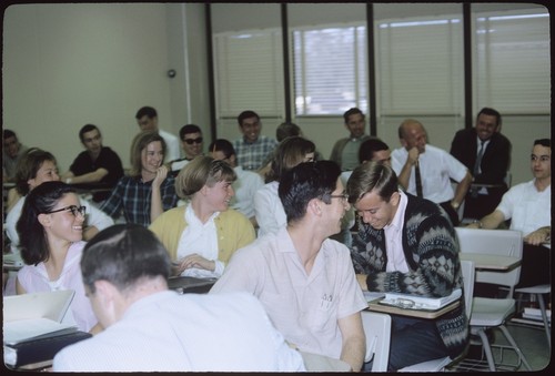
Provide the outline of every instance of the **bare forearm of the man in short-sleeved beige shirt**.
<path id="1" fill-rule="evenodd" d="M 366 355 L 366 336 L 362 326 L 361 313 L 340 318 L 337 325 L 343 337 L 340 359 L 351 365 L 352 370 L 360 372 Z"/>

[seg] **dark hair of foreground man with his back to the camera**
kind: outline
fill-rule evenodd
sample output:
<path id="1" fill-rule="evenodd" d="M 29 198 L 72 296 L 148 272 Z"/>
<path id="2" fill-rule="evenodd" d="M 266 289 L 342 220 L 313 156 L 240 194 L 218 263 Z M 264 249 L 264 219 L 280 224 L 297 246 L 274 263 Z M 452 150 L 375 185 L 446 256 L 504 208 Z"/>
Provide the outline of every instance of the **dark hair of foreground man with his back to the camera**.
<path id="1" fill-rule="evenodd" d="M 83 248 L 83 284 L 94 294 L 94 282 L 108 281 L 119 291 L 144 277 L 170 277 L 171 260 L 157 235 L 139 224 L 115 224 L 99 232 Z"/>

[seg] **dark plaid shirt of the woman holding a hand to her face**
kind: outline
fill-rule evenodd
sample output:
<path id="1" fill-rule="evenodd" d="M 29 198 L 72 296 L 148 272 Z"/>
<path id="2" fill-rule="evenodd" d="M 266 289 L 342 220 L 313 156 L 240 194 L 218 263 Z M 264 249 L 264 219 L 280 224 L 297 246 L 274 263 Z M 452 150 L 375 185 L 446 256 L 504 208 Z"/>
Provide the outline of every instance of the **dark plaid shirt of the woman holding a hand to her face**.
<path id="1" fill-rule="evenodd" d="M 168 175 L 160 186 L 164 212 L 178 205 L 175 177 Z M 140 177 L 123 176 L 100 210 L 112 217 L 123 211 L 127 223 L 150 225 L 152 181 L 143 183 Z"/>

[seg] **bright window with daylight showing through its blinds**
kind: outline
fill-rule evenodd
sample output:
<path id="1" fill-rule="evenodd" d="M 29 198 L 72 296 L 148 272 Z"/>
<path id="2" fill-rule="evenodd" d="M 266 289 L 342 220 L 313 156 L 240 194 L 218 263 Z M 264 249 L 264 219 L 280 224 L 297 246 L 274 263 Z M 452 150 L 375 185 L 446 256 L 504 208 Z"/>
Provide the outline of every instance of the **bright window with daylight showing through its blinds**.
<path id="1" fill-rule="evenodd" d="M 364 26 L 293 30 L 295 116 L 366 112 L 367 53 Z"/>

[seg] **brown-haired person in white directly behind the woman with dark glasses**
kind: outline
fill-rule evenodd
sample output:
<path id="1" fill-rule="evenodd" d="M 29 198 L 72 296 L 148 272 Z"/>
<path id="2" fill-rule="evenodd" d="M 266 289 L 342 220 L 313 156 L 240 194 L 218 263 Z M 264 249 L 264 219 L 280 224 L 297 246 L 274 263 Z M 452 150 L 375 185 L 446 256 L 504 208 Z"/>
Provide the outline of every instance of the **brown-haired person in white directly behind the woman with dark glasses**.
<path id="1" fill-rule="evenodd" d="M 6 217 L 6 234 L 10 240 L 12 252 L 18 252 L 20 237 L 16 224 L 21 216 L 26 195 L 44 182 L 58 182 L 58 166 L 56 157 L 43 150 L 32 148 L 21 159 L 16 174 L 16 189 L 19 200 Z M 91 240 L 99 231 L 113 224 L 113 220 L 97 209 L 90 202 L 79 197 L 79 206 L 87 207 L 87 219 L 83 224 L 82 235 L 84 241 Z"/>

